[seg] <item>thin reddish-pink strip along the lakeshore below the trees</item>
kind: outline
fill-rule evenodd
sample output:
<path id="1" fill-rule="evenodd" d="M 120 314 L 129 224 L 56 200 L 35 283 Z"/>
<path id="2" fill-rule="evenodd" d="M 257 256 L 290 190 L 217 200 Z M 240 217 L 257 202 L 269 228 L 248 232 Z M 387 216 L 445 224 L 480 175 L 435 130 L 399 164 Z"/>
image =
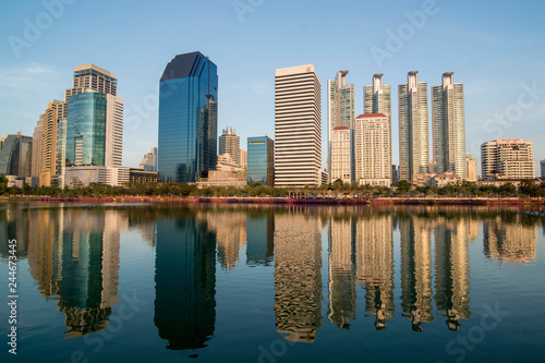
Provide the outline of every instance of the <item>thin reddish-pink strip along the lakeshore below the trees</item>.
<path id="1" fill-rule="evenodd" d="M 410 205 L 545 205 L 544 198 L 486 198 L 486 197 L 383 197 L 375 199 L 315 198 L 296 199 L 283 197 L 178 197 L 178 196 L 98 196 L 98 197 L 50 197 L 10 196 L 2 202 L 52 202 L 52 203 L 255 203 L 255 204 L 410 204 Z"/>

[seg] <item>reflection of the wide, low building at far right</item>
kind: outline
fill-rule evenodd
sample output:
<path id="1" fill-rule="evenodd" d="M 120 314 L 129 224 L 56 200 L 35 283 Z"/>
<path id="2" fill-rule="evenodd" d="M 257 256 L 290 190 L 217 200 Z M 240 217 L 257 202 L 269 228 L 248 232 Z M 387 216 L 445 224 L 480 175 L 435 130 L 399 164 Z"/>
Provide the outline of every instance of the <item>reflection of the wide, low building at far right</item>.
<path id="1" fill-rule="evenodd" d="M 529 223 L 522 215 L 512 218 L 483 222 L 484 254 L 501 264 L 528 264 L 536 258 L 537 225 Z"/>

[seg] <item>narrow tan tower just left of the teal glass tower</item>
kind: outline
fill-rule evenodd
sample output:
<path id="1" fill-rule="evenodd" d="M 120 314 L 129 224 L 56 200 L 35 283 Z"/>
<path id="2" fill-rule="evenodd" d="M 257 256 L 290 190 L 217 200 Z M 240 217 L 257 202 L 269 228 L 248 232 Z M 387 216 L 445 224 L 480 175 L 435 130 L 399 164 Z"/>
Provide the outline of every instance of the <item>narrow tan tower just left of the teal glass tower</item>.
<path id="1" fill-rule="evenodd" d="M 44 112 L 41 124 L 41 171 L 39 184 L 52 186 L 56 181 L 57 126 L 64 114 L 64 102 L 53 100 Z"/>

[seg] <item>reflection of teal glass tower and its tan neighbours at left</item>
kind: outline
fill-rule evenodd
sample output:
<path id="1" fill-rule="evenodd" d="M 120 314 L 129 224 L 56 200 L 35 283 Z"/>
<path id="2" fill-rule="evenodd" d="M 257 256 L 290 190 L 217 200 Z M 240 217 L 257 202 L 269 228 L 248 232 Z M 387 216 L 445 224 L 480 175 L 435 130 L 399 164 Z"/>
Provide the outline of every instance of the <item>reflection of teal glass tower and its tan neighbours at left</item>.
<path id="1" fill-rule="evenodd" d="M 34 209 L 28 223 L 31 274 L 65 315 L 66 338 L 105 330 L 119 302 L 120 230 L 113 210 Z"/>

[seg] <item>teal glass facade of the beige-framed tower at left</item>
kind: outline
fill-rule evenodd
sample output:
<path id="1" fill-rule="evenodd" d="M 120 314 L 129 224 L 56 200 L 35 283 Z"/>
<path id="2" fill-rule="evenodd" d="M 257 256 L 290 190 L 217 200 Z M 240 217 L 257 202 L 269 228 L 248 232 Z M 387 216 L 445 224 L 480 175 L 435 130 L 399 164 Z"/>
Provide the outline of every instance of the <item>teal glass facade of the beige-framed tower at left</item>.
<path id="1" fill-rule="evenodd" d="M 83 93 L 68 106 L 66 166 L 105 166 L 106 94 Z"/>

